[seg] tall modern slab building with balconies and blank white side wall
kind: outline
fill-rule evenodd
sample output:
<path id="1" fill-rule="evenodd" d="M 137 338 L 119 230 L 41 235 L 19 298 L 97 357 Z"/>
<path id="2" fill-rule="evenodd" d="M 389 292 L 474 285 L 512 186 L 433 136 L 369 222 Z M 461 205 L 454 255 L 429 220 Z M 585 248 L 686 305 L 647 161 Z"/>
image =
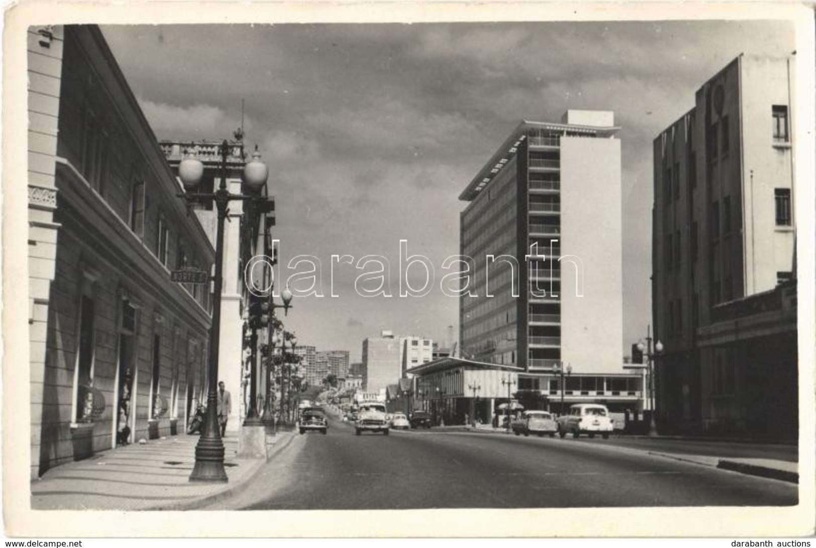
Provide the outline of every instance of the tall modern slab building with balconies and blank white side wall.
<path id="1" fill-rule="evenodd" d="M 459 356 L 520 367 L 514 390 L 548 400 L 569 364 L 565 403 L 623 410 L 639 408 L 643 382 L 621 351 L 618 130 L 603 111 L 521 122 L 461 193 L 474 296 L 459 299 Z"/>

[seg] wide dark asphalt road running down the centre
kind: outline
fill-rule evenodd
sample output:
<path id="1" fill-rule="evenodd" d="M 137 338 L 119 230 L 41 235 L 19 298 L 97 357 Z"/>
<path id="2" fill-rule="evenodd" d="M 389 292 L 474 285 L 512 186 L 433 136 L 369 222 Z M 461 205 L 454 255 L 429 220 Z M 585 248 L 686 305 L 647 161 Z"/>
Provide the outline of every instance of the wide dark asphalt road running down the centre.
<path id="1" fill-rule="evenodd" d="M 796 484 L 573 440 L 464 431 L 296 435 L 249 488 L 211 509 L 362 510 L 787 506 Z"/>

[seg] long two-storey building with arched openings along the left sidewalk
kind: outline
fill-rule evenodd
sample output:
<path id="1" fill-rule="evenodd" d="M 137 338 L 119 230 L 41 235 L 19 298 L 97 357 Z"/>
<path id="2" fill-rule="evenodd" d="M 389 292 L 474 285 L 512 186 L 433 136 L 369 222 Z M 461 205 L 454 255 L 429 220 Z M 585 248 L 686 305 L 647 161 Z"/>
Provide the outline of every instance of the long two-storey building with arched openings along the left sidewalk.
<path id="1" fill-rule="evenodd" d="M 100 29 L 29 29 L 31 475 L 183 430 L 215 252 Z M 179 424 L 179 422 L 181 424 Z"/>

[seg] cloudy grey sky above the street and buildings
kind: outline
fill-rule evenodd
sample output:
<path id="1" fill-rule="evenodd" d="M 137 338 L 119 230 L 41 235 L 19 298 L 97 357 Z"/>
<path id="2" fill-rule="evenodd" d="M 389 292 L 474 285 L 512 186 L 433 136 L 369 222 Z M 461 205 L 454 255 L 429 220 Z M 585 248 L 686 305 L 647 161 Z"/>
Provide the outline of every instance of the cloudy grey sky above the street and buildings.
<path id="1" fill-rule="evenodd" d="M 522 118 L 558 122 L 566 108 L 612 110 L 622 127 L 628 348 L 650 317 L 652 139 L 739 53 L 795 47 L 792 25 L 770 21 L 102 29 L 159 139 L 229 137 L 245 100 L 246 143 L 271 168 L 282 263 L 322 260 L 326 298 L 299 299 L 286 325 L 353 360 L 380 329 L 458 333 L 457 302 L 438 285 L 396 297 L 399 241 L 436 265 L 457 254 L 459 192 Z M 332 254 L 384 254 L 395 297 L 358 297 L 342 266 L 328 298 Z"/>

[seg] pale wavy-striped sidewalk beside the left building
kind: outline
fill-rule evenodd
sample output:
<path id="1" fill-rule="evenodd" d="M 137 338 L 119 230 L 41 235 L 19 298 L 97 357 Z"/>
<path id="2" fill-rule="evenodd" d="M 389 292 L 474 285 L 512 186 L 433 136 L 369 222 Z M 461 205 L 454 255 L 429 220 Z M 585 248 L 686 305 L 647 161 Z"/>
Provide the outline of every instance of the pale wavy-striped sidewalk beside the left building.
<path id="1" fill-rule="evenodd" d="M 267 455 L 286 447 L 291 431 L 269 437 Z M 32 480 L 32 510 L 192 510 L 227 497 L 252 479 L 266 460 L 238 459 L 237 432 L 224 438 L 226 484 L 189 481 L 197 435 L 131 444 L 56 466 Z"/>

